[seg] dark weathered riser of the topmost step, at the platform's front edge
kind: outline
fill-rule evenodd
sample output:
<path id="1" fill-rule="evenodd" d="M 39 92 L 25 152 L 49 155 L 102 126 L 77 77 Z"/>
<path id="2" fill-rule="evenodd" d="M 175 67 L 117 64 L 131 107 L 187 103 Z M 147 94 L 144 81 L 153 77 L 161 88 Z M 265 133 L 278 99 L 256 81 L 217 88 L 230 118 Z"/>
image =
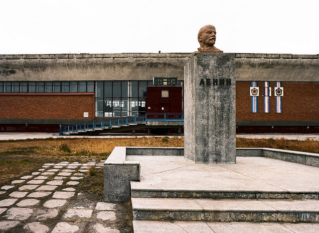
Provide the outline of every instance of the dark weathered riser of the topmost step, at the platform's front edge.
<path id="1" fill-rule="evenodd" d="M 141 189 L 131 182 L 131 196 L 144 198 L 211 198 L 211 199 L 315 199 L 319 200 L 318 192 L 278 192 L 262 190 L 162 190 Z"/>

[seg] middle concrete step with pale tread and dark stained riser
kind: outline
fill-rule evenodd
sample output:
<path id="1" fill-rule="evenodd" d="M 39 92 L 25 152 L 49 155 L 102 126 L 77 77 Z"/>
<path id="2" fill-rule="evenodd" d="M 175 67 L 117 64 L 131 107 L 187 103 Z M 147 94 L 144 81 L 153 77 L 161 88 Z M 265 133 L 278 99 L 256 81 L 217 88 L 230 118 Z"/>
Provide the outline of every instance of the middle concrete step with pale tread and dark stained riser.
<path id="1" fill-rule="evenodd" d="M 319 200 L 132 198 L 134 220 L 319 223 Z"/>

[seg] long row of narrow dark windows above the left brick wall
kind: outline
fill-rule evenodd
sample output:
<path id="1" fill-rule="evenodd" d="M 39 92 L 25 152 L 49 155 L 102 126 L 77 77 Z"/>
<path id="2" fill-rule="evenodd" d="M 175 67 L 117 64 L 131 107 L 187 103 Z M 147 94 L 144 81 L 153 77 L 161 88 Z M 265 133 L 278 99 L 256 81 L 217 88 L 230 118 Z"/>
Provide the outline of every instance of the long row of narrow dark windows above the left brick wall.
<path id="1" fill-rule="evenodd" d="M 94 81 L 0 81 L 0 93 L 94 92 Z"/>

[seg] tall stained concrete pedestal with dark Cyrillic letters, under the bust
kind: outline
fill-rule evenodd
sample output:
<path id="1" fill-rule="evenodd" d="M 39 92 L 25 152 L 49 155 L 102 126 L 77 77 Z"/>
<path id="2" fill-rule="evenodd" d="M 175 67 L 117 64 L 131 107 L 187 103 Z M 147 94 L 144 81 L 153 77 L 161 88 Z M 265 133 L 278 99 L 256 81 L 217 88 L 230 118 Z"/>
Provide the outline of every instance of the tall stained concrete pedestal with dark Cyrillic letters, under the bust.
<path id="1" fill-rule="evenodd" d="M 184 76 L 184 156 L 236 163 L 234 54 L 195 53 Z"/>

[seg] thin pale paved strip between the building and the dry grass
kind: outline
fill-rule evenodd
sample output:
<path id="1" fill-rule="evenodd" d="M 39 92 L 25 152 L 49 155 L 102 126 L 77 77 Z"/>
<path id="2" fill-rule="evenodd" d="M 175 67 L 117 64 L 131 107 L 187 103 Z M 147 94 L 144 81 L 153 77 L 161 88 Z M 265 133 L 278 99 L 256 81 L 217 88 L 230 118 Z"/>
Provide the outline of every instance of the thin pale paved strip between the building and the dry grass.
<path id="1" fill-rule="evenodd" d="M 65 135 L 59 136 L 58 133 L 0 133 L 0 140 L 24 140 L 24 139 L 43 139 L 43 138 L 153 138 L 153 137 L 177 137 L 177 136 L 79 136 L 79 135 Z M 178 136 L 182 137 L 182 136 Z M 319 134 L 237 134 L 237 138 L 251 138 L 251 139 L 289 139 L 289 140 L 315 140 L 319 141 Z"/>

